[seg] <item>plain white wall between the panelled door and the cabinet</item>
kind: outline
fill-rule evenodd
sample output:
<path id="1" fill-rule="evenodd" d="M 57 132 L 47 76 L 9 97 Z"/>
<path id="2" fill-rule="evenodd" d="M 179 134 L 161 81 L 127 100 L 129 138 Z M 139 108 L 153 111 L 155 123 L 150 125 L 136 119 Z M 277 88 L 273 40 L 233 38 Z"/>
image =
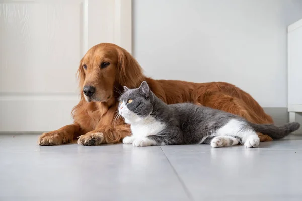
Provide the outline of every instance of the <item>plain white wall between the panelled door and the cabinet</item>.
<path id="1" fill-rule="evenodd" d="M 301 0 L 133 0 L 133 55 L 146 75 L 225 81 L 287 106 L 287 26 Z"/>

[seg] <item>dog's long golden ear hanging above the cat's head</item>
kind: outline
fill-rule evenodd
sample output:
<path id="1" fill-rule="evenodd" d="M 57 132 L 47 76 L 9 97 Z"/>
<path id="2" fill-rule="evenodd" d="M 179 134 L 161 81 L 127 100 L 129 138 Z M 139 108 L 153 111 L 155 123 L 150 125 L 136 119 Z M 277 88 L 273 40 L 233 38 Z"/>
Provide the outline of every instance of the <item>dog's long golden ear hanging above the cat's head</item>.
<path id="1" fill-rule="evenodd" d="M 143 81 L 142 69 L 135 58 L 121 47 L 117 47 L 117 81 L 130 89 L 136 88 Z"/>

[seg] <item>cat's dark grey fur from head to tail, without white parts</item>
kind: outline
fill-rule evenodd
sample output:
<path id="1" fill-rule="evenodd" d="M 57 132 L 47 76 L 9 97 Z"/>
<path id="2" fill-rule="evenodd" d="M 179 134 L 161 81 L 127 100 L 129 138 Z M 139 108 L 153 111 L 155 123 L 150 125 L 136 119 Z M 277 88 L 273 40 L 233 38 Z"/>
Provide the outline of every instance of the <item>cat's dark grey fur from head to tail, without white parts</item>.
<path id="1" fill-rule="evenodd" d="M 139 88 L 128 89 L 120 97 L 121 101 L 127 102 L 129 110 L 137 114 L 140 118 L 151 115 L 157 122 L 165 124 L 165 128 L 156 135 L 147 136 L 157 144 L 210 144 L 215 137 L 215 131 L 223 127 L 232 119 L 236 119 L 244 125 L 242 131 L 255 130 L 265 133 L 273 139 L 280 139 L 299 128 L 298 123 L 289 123 L 280 127 L 275 125 L 258 125 L 246 121 L 237 115 L 209 107 L 198 106 L 192 103 L 179 103 L 167 105 L 156 97 L 148 84 L 144 81 Z M 232 133 L 228 133 L 232 136 Z M 233 136 L 241 144 L 242 139 Z M 203 139 L 203 142 L 201 142 Z M 233 144 L 230 140 L 230 144 Z"/>

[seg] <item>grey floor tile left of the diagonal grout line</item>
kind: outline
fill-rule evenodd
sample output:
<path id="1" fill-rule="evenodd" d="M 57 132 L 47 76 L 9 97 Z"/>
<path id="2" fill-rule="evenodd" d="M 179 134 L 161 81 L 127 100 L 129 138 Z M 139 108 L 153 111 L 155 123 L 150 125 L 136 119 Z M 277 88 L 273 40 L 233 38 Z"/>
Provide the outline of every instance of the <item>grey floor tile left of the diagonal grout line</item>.
<path id="1" fill-rule="evenodd" d="M 39 147 L 37 136 L 8 137 L 0 137 L 0 200 L 188 200 L 160 147 Z"/>

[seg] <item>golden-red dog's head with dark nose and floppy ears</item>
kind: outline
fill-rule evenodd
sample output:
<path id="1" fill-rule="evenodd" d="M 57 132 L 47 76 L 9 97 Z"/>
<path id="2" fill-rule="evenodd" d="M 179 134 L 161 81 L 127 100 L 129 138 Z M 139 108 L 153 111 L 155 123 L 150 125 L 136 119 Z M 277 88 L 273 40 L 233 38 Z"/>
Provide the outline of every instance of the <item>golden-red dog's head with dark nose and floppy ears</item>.
<path id="1" fill-rule="evenodd" d="M 110 43 L 88 50 L 80 62 L 78 77 L 81 97 L 87 102 L 106 102 L 115 90 L 124 85 L 137 87 L 143 80 L 142 69 L 130 53 Z"/>

